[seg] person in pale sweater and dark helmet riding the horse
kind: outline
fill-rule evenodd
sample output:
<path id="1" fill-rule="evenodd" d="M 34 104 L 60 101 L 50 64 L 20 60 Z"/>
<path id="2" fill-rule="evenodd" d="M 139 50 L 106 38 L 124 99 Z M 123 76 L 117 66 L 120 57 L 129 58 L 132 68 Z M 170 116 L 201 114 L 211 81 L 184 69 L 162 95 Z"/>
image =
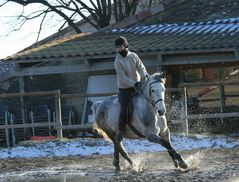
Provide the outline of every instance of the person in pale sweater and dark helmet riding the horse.
<path id="1" fill-rule="evenodd" d="M 117 55 L 115 58 L 115 70 L 117 75 L 117 86 L 119 88 L 119 130 L 115 139 L 122 141 L 127 120 L 127 105 L 130 95 L 140 87 L 140 81 L 148 77 L 146 68 L 137 54 L 129 50 L 129 43 L 125 37 L 120 36 L 115 40 Z"/>

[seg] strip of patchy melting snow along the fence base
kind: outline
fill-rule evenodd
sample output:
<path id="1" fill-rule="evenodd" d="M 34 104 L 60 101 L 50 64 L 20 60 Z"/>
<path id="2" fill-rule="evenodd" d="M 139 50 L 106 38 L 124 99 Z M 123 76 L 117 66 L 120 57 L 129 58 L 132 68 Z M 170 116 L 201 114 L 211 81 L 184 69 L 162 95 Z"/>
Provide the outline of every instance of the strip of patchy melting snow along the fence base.
<path id="1" fill-rule="evenodd" d="M 235 138 L 205 135 L 183 136 L 172 135 L 172 145 L 176 150 L 192 150 L 205 148 L 233 148 L 239 146 Z M 161 152 L 165 149 L 145 139 L 123 141 L 129 153 Z M 55 140 L 43 143 L 25 143 L 10 149 L 0 149 L 0 159 L 32 158 L 55 156 L 87 156 L 92 154 L 112 154 L 113 144 L 104 139 L 78 138 L 73 140 Z"/>

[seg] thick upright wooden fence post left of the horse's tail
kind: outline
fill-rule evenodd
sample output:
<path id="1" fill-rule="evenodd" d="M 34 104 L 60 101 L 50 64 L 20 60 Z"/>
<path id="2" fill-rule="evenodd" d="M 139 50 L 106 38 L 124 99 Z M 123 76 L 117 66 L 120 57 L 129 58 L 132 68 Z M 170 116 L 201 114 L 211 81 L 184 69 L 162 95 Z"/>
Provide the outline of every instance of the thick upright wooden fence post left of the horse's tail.
<path id="1" fill-rule="evenodd" d="M 56 108 L 56 123 L 57 126 L 62 126 L 62 118 L 61 118 L 61 93 L 60 90 L 58 90 L 58 93 L 55 97 L 55 108 Z M 63 138 L 62 128 L 57 128 L 57 137 Z"/>

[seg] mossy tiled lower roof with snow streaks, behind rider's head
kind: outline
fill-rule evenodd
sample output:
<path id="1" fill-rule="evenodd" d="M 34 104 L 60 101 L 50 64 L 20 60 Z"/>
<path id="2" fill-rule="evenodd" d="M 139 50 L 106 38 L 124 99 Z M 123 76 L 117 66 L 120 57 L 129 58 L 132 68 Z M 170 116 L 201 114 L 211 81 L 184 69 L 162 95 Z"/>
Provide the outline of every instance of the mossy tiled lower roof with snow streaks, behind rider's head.
<path id="1" fill-rule="evenodd" d="M 239 45 L 239 18 L 158 24 L 78 34 L 15 54 L 5 60 L 96 57 L 115 54 L 114 40 L 128 38 L 136 52 L 229 49 Z"/>

